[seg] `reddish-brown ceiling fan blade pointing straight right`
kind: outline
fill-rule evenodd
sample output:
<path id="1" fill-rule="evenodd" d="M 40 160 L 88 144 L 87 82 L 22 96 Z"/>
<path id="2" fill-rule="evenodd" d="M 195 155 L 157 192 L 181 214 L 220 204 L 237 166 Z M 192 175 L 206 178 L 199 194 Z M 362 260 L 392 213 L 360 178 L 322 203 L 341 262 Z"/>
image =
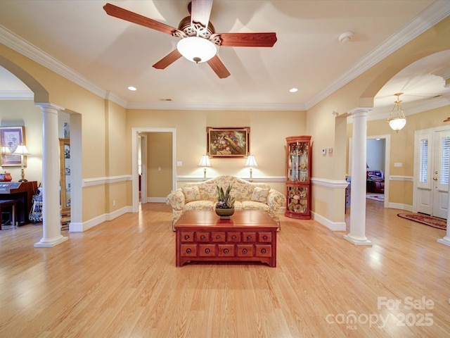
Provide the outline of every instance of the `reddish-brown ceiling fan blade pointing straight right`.
<path id="1" fill-rule="evenodd" d="M 276 42 L 276 33 L 219 33 L 221 46 L 229 47 L 271 47 Z"/>

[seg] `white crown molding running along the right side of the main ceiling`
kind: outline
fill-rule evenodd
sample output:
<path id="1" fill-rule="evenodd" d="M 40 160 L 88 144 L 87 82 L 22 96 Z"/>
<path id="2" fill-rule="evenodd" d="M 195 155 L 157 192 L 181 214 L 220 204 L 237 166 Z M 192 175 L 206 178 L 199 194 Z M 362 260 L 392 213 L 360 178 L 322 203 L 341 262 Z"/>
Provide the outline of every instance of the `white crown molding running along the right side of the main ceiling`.
<path id="1" fill-rule="evenodd" d="M 401 48 L 408 42 L 410 42 L 418 35 L 428 30 L 430 27 L 436 25 L 442 19 L 450 15 L 450 1 L 448 0 L 437 0 L 428 8 L 420 13 L 416 18 L 411 20 L 409 23 L 401 27 L 400 30 L 394 33 L 391 37 L 385 40 L 383 44 L 376 47 L 369 54 L 361 58 L 357 63 L 352 65 L 344 74 L 338 77 L 338 80 L 330 84 L 328 87 L 324 88 L 321 92 L 316 94 L 311 100 L 307 101 L 305 104 L 306 108 L 309 109 L 316 104 L 318 104 L 326 97 L 330 96 L 338 89 L 345 86 L 345 84 L 354 80 L 356 77 L 364 73 L 369 68 L 376 65 L 378 62 L 382 61 L 384 58 L 392 54 L 397 49 Z"/>

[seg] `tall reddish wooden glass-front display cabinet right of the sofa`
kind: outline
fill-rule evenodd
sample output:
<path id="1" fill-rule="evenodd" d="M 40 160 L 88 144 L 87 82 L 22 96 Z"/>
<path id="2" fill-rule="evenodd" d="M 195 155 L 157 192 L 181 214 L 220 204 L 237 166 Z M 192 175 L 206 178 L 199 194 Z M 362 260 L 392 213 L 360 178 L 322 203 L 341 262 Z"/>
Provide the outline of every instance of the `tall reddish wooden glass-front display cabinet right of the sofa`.
<path id="1" fill-rule="evenodd" d="M 286 137 L 285 216 L 311 219 L 311 136 Z"/>

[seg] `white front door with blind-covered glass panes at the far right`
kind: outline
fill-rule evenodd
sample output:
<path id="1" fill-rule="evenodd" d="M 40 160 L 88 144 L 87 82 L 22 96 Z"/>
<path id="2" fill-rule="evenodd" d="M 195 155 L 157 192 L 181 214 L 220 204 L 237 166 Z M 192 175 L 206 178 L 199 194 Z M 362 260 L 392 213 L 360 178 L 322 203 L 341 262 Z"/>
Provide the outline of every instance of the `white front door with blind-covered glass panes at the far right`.
<path id="1" fill-rule="evenodd" d="M 416 135 L 416 211 L 447 218 L 449 199 L 450 131 L 419 132 Z"/>

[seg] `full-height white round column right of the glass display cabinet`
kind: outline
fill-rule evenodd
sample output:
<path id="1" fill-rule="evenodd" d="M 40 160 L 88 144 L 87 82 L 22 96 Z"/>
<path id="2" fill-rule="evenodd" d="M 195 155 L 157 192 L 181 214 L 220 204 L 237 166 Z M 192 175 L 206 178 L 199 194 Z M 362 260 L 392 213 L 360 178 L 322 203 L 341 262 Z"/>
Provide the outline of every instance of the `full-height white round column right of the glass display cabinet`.
<path id="1" fill-rule="evenodd" d="M 372 245 L 366 237 L 366 143 L 367 109 L 353 112 L 352 191 L 350 232 L 344 236 L 355 245 Z"/>

